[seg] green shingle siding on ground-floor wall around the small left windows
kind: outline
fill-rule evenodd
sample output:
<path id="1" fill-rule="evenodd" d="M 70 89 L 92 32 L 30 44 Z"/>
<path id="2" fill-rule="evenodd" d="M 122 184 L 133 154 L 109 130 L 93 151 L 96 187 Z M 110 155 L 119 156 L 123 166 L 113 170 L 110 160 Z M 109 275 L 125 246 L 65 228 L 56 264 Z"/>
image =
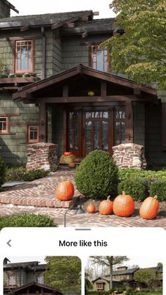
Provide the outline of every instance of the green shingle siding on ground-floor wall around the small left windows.
<path id="1" fill-rule="evenodd" d="M 12 101 L 11 94 L 0 94 L 0 113 L 19 115 L 10 116 L 8 134 L 0 135 L 1 155 L 6 163 L 20 165 L 26 163 L 27 125 L 39 123 L 39 108 L 33 104 Z M 15 125 L 14 125 L 15 124 Z"/>

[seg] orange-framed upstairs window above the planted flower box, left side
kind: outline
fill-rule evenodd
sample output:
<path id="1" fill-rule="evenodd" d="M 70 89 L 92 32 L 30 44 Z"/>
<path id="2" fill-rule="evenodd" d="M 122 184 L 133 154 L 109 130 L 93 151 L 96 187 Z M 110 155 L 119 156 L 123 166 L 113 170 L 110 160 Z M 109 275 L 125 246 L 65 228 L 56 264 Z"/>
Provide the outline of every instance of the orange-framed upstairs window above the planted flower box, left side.
<path id="1" fill-rule="evenodd" d="M 33 40 L 15 41 L 15 73 L 33 72 Z"/>

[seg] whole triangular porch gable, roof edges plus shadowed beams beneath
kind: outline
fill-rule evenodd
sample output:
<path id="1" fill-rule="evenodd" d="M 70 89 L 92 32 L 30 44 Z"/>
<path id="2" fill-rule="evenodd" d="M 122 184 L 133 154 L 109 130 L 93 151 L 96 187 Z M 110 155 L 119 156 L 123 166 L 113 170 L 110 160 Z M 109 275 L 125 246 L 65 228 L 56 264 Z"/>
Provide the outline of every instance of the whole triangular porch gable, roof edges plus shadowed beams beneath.
<path id="1" fill-rule="evenodd" d="M 40 98 L 46 97 L 55 97 L 56 100 L 56 97 L 86 96 L 86 94 L 82 93 L 87 93 L 88 90 L 91 90 L 91 86 L 96 96 L 103 96 L 103 94 L 99 94 L 97 89 L 98 87 L 101 87 L 101 83 L 105 83 L 107 88 L 105 89 L 105 92 L 103 92 L 105 96 L 135 95 L 140 97 L 151 96 L 153 99 L 157 99 L 156 90 L 151 87 L 136 84 L 131 80 L 110 73 L 101 72 L 99 70 L 94 70 L 93 68 L 80 64 L 52 77 L 18 89 L 18 92 L 13 94 L 13 99 L 19 101 L 28 100 L 33 103 L 35 101 L 39 102 Z M 70 92 L 72 92 L 72 94 L 64 92 L 64 85 L 66 84 L 70 87 Z M 82 90 L 84 89 L 84 92 L 80 92 L 79 94 L 80 87 Z"/>

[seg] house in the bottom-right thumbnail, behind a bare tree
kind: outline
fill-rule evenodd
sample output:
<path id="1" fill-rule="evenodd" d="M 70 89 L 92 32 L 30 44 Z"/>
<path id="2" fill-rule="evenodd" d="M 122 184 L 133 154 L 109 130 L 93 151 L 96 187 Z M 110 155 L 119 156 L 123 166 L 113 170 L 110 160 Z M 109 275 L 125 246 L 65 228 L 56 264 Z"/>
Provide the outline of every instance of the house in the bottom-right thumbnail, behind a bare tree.
<path id="1" fill-rule="evenodd" d="M 113 288 L 118 287 L 131 287 L 132 289 L 146 288 L 146 284 L 136 282 L 134 280 L 134 274 L 138 270 L 154 270 L 156 274 L 160 275 L 158 277 L 158 282 L 156 287 L 162 289 L 162 267 L 153 268 L 127 268 L 127 266 L 120 266 L 113 271 Z M 93 284 L 93 291 L 108 291 L 109 290 L 110 275 L 105 275 L 103 277 L 97 277 Z"/>

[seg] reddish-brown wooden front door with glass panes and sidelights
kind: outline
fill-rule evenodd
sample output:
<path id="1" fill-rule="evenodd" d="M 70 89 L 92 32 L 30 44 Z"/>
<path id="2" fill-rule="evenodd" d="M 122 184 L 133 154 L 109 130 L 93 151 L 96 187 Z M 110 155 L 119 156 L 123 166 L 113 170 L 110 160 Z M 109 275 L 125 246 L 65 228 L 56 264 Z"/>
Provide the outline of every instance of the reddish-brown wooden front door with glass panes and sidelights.
<path id="1" fill-rule="evenodd" d="M 124 113 L 114 106 L 76 107 L 67 111 L 66 147 L 75 156 L 84 157 L 101 149 L 112 154 L 112 146 L 123 142 Z M 121 115 L 122 117 L 122 115 Z M 124 133 L 124 134 L 123 134 Z M 118 140 L 120 139 L 120 140 Z"/>

